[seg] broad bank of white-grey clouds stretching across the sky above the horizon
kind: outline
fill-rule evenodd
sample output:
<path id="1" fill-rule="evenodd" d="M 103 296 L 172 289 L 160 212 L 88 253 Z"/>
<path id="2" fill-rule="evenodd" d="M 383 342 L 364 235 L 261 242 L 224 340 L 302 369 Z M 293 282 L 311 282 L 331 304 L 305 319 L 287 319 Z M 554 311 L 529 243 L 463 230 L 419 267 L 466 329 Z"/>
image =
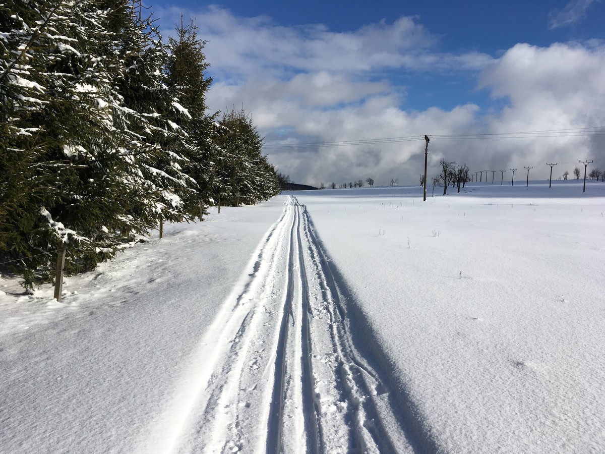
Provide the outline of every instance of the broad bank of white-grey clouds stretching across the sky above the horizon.
<path id="1" fill-rule="evenodd" d="M 441 157 L 474 170 L 534 166 L 532 177 L 548 177 L 546 162 L 560 162 L 563 173 L 578 159 L 604 158 L 595 136 L 438 137 L 605 125 L 600 42 L 518 44 L 495 59 L 440 52 L 439 40 L 415 18 L 335 33 L 321 24 L 283 27 L 266 16 L 241 18 L 219 7 L 182 13 L 196 18 L 208 41 L 212 110 L 243 104 L 265 137 L 270 161 L 296 182 L 341 184 L 372 177 L 378 185 L 391 178 L 417 184 L 424 170 L 424 134 L 434 135 L 430 172 L 435 173 Z M 181 10 L 159 8 L 155 14 L 169 30 L 180 22 Z M 493 104 L 480 107 L 461 99 L 450 110 L 404 108 L 418 81 L 445 84 L 451 74 L 476 81 Z"/>

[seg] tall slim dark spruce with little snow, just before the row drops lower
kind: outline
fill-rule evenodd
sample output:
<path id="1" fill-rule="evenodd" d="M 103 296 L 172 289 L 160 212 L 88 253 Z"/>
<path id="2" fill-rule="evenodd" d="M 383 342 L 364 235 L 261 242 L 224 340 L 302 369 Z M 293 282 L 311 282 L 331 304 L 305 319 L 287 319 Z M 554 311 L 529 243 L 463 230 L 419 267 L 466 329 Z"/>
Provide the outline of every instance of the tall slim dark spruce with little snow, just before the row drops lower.
<path id="1" fill-rule="evenodd" d="M 188 143 L 193 145 L 187 150 L 184 171 L 197 182 L 198 190 L 185 200 L 185 205 L 189 213 L 198 214 L 201 219 L 207 212 L 206 206 L 214 203 L 212 186 L 217 182 L 213 178 L 212 157 L 217 154 L 217 146 L 212 135 L 217 113 L 209 114 L 206 105 L 206 93 L 212 83 L 212 77 L 205 74 L 209 67 L 203 52 L 206 42 L 198 38 L 197 26 L 192 22 L 183 24 L 182 17 L 176 31 L 177 38 L 169 42 L 171 54 L 166 75 L 172 93 L 188 113 L 174 122 L 186 131 Z"/>

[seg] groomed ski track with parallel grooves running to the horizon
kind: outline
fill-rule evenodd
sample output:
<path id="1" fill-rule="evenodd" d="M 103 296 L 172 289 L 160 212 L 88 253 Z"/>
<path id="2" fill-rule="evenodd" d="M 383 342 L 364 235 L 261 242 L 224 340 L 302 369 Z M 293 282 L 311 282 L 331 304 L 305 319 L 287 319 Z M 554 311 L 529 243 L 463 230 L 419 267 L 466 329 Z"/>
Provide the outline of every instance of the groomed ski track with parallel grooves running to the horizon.
<path id="1" fill-rule="evenodd" d="M 393 410 L 393 380 L 381 381 L 355 349 L 348 297 L 295 197 L 249 269 L 157 418 L 162 442 L 147 439 L 140 452 L 391 453 L 424 444 L 407 438 L 410 422 Z"/>

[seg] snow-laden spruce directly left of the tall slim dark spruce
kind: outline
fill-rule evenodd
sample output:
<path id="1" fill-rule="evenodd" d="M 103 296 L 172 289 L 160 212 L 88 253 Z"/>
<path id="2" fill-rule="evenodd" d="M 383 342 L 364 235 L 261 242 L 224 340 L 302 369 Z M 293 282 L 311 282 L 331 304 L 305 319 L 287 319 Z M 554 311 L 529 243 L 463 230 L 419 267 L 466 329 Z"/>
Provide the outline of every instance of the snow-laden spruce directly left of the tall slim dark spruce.
<path id="1" fill-rule="evenodd" d="M 157 223 L 160 216 L 181 220 L 190 217 L 183 202 L 197 192 L 197 183 L 183 171 L 195 144 L 177 123 L 188 119 L 189 113 L 168 87 L 162 71 L 168 64 L 168 49 L 151 18 L 123 27 L 120 125 L 130 140 L 123 154 L 136 163 L 137 177 L 146 191 L 145 203 L 132 216 L 146 225 Z"/>

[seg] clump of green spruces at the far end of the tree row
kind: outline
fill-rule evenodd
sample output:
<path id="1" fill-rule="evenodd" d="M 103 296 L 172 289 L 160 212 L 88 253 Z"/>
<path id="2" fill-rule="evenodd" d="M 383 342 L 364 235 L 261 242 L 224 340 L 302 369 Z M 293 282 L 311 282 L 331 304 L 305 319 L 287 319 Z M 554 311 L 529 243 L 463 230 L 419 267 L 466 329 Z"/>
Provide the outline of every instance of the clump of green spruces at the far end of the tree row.
<path id="1" fill-rule="evenodd" d="M 224 188 L 224 205 L 257 203 L 280 192 L 275 168 L 261 154 L 263 139 L 243 109 L 223 114 L 215 140 L 220 147 L 217 179 Z"/>

